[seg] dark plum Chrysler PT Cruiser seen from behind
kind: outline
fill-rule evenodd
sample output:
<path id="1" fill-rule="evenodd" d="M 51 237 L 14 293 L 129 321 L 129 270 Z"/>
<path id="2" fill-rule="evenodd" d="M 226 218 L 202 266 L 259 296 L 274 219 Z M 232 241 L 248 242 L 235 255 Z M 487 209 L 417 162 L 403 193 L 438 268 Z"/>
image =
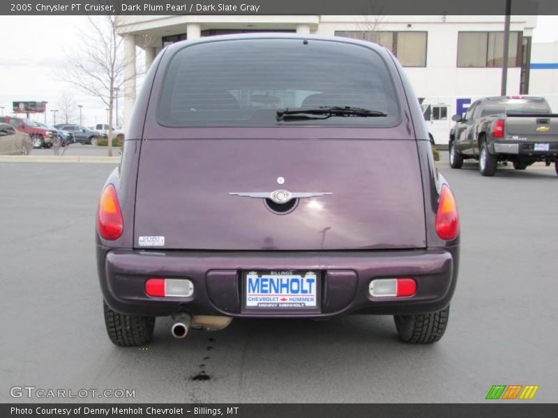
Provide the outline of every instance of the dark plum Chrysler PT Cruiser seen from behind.
<path id="1" fill-rule="evenodd" d="M 153 62 L 100 197 L 113 343 L 232 318 L 390 314 L 438 341 L 458 275 L 455 200 L 421 108 L 378 45 L 285 34 L 177 42 Z"/>

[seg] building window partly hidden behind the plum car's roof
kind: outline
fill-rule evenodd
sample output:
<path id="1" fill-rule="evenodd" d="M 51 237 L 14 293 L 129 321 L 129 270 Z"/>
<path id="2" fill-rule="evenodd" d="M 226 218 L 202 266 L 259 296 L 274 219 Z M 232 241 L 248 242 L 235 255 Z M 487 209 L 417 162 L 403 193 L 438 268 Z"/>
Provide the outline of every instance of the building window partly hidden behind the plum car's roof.
<path id="1" fill-rule="evenodd" d="M 335 36 L 368 40 L 386 47 L 404 67 L 426 66 L 427 32 L 335 31 Z"/>

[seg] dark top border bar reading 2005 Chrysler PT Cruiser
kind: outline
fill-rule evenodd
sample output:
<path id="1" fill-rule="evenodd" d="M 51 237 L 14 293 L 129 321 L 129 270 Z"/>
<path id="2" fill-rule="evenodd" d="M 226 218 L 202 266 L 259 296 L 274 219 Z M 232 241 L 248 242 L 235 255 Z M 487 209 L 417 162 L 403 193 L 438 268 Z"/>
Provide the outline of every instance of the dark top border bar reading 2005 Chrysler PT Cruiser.
<path id="1" fill-rule="evenodd" d="M 444 16 L 504 15 L 505 7 L 506 0 L 2 0 L 0 15 Z M 558 1 L 511 0 L 511 14 L 558 15 Z"/>

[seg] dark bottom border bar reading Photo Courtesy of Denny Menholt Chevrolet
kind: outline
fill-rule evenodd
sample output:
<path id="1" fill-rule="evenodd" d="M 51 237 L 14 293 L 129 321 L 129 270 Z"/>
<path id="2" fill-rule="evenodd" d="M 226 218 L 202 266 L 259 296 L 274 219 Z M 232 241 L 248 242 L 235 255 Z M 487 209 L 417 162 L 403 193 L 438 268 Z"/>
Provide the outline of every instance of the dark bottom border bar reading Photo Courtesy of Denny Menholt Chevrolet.
<path id="1" fill-rule="evenodd" d="M 31 413 L 15 413 L 12 408 L 27 408 Z M 108 414 L 84 413 L 85 408 L 107 409 Z M 116 412 L 113 408 L 116 408 Z M 148 408 L 159 408 L 170 413 L 149 413 Z M 229 409 L 232 408 L 232 409 Z M 236 408 L 236 409 L 234 409 Z M 123 411 L 120 411 L 122 409 Z M 130 411 L 132 409 L 133 411 Z M 52 410 L 52 413 L 47 411 Z M 71 410 L 70 414 L 63 410 Z M 61 411 L 61 412 L 54 412 Z M 231 411 L 231 412 L 227 412 Z M 3 403 L 0 416 L 3 418 L 372 418 L 372 417 L 451 417 L 451 418 L 515 418 L 515 417 L 557 417 L 558 405 L 552 403 L 530 403 L 530 401 L 490 401 L 490 403 L 439 404 L 342 404 L 342 403 L 236 403 L 236 404 L 161 404 L 161 403 Z"/>

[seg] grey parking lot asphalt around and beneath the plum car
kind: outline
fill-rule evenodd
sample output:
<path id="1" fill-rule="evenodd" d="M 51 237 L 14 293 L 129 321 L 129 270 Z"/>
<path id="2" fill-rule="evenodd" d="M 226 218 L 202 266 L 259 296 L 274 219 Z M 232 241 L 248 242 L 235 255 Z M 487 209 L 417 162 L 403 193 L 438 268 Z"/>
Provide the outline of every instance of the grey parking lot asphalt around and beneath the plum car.
<path id="1" fill-rule="evenodd" d="M 492 385 L 539 385 L 529 402 L 558 401 L 554 167 L 483 178 L 473 163 L 440 164 L 462 255 L 439 343 L 400 343 L 389 316 L 233 320 L 184 340 L 163 318 L 144 348 L 113 346 L 103 323 L 94 218 L 114 167 L 0 164 L 1 402 L 65 401 L 10 396 L 33 386 L 135 390 L 92 402 L 476 403 Z M 192 380 L 202 370 L 210 379 Z"/>

